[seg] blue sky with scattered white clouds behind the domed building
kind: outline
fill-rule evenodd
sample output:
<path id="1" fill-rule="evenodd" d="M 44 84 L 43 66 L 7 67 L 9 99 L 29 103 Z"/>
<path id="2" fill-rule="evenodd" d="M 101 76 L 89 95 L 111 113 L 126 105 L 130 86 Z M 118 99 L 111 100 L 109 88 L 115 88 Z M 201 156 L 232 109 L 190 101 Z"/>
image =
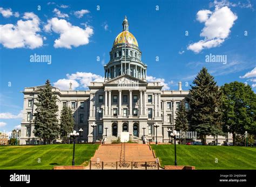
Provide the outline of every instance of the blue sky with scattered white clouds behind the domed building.
<path id="1" fill-rule="evenodd" d="M 247 82 L 255 92 L 253 1 L 2 0 L 0 131 L 20 125 L 24 87 L 49 79 L 60 89 L 72 81 L 76 90 L 84 90 L 90 81 L 102 80 L 125 15 L 148 66 L 148 81 L 170 90 L 181 81 L 187 90 L 186 82 L 192 84 L 205 66 L 218 85 Z M 34 54 L 51 55 L 51 64 L 30 62 Z M 206 62 L 210 54 L 226 55 L 227 61 Z"/>

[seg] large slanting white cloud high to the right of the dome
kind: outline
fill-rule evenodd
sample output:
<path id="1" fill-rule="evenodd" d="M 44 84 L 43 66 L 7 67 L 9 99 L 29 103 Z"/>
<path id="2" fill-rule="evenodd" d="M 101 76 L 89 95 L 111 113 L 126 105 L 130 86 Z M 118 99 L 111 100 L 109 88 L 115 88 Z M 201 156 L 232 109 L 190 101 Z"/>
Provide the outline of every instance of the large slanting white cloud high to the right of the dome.
<path id="1" fill-rule="evenodd" d="M 195 53 L 199 53 L 205 48 L 220 46 L 230 34 L 230 29 L 234 21 L 237 20 L 237 16 L 227 6 L 223 8 L 216 6 L 213 12 L 210 10 L 198 11 L 197 20 L 205 23 L 200 33 L 200 37 L 204 37 L 204 39 L 187 47 L 188 50 Z"/>

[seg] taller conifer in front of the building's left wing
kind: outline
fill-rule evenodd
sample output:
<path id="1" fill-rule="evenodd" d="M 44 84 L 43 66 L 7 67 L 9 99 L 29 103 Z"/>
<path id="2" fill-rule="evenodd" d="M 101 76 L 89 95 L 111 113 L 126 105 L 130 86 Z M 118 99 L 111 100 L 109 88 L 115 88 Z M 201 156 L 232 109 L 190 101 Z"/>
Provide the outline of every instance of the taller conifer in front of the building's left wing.
<path id="1" fill-rule="evenodd" d="M 44 144 L 46 144 L 46 141 L 51 142 L 58 138 L 59 135 L 57 96 L 53 95 L 51 89 L 50 81 L 47 80 L 45 88 L 38 94 L 38 103 L 35 103 L 37 108 L 34 119 L 35 130 L 33 133 L 38 138 L 42 138 Z"/>

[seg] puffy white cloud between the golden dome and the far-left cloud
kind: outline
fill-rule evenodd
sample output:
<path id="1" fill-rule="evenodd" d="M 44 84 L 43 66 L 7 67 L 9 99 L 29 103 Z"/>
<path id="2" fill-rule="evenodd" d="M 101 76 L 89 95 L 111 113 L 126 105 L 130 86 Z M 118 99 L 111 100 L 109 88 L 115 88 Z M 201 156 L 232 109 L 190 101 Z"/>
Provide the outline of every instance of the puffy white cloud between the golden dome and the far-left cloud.
<path id="1" fill-rule="evenodd" d="M 71 46 L 78 47 L 80 45 L 89 44 L 89 38 L 93 34 L 93 29 L 90 26 L 85 26 L 85 29 L 78 26 L 73 26 L 64 19 L 52 18 L 48 20 L 48 24 L 44 26 L 46 32 L 53 31 L 60 34 L 55 40 L 55 48 L 68 48 Z"/>

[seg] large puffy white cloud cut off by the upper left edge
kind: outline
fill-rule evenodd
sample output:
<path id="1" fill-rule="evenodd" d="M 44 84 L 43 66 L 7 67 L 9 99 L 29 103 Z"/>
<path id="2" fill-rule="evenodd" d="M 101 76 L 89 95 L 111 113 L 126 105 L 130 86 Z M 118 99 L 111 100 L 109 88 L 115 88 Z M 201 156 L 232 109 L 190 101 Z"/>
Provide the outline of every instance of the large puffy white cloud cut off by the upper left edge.
<path id="1" fill-rule="evenodd" d="M 24 20 L 18 20 L 16 25 L 0 25 L 0 43 L 6 48 L 28 47 L 34 49 L 43 45 L 43 39 L 38 32 L 39 18 L 33 12 L 25 12 Z"/>

